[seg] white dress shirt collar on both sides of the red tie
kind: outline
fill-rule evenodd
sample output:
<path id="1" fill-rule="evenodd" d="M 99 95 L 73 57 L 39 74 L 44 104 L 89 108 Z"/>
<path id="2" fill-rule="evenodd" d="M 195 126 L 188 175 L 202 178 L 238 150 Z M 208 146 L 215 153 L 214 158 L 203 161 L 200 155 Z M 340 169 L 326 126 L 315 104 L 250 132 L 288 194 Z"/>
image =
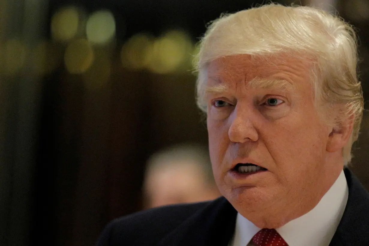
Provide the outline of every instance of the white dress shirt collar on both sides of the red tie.
<path id="1" fill-rule="evenodd" d="M 311 211 L 276 231 L 289 246 L 328 246 L 341 221 L 348 198 L 344 171 Z M 241 214 L 237 214 L 233 238 L 228 246 L 252 246 L 252 237 L 260 230 Z"/>

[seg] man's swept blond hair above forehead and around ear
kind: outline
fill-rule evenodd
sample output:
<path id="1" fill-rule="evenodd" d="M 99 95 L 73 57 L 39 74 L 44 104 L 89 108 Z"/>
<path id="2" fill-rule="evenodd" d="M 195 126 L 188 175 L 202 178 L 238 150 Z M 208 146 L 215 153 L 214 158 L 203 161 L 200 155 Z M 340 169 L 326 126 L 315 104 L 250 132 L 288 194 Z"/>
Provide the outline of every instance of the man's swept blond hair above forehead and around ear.
<path id="1" fill-rule="evenodd" d="M 204 93 L 211 61 L 230 55 L 281 53 L 313 58 L 315 103 L 327 106 L 330 110 L 326 112 L 332 111 L 333 105 L 344 105 L 341 115 L 354 119 L 352 135 L 342 150 L 345 164 L 349 163 L 363 112 L 362 88 L 356 75 L 356 35 L 351 25 L 323 10 L 268 4 L 211 22 L 197 56 L 197 105 L 207 111 Z M 339 120 L 334 120 L 338 124 Z"/>

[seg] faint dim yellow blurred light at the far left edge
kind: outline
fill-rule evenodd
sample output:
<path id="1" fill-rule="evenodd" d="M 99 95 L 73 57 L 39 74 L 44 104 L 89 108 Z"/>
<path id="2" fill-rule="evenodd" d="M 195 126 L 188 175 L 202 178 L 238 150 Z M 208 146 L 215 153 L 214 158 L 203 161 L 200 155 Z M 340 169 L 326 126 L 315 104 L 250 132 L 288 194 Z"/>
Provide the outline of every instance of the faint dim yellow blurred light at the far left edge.
<path id="1" fill-rule="evenodd" d="M 5 75 L 14 75 L 23 67 L 27 49 L 19 39 L 7 40 L 1 49 L 1 72 Z"/>

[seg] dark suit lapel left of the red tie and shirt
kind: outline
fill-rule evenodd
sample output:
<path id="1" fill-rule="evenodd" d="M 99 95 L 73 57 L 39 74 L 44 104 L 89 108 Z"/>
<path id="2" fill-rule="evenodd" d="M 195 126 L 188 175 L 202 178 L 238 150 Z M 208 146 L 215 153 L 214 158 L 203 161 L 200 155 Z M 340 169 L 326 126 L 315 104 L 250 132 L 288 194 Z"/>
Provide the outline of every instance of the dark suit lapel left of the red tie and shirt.
<path id="1" fill-rule="evenodd" d="M 227 246 L 235 229 L 237 211 L 220 197 L 184 221 L 158 246 Z"/>

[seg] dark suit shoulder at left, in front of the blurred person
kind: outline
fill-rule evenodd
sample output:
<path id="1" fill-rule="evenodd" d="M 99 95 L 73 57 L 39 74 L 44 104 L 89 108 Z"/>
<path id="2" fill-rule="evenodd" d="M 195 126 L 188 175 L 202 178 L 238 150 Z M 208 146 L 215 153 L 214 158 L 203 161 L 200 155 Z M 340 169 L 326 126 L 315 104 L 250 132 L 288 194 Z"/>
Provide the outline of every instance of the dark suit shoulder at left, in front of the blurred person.
<path id="1" fill-rule="evenodd" d="M 101 233 L 97 245 L 155 245 L 184 221 L 216 201 L 169 205 L 114 219 Z"/>

